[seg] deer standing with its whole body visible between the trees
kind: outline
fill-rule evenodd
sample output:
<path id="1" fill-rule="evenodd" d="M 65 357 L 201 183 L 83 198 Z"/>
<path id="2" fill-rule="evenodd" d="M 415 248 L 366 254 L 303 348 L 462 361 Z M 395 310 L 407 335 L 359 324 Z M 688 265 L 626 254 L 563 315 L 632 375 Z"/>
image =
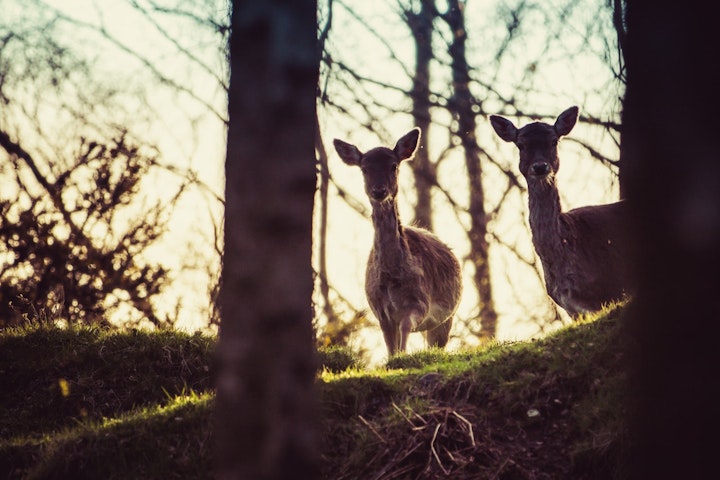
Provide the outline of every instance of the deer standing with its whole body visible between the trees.
<path id="1" fill-rule="evenodd" d="M 462 292 L 460 263 L 451 249 L 430 231 L 403 225 L 398 215 L 398 168 L 415 155 L 420 134 L 416 127 L 394 148 L 365 153 L 333 141 L 344 163 L 360 167 L 372 207 L 365 293 L 390 357 L 405 352 L 411 332 L 423 332 L 430 347 L 444 348 Z"/>

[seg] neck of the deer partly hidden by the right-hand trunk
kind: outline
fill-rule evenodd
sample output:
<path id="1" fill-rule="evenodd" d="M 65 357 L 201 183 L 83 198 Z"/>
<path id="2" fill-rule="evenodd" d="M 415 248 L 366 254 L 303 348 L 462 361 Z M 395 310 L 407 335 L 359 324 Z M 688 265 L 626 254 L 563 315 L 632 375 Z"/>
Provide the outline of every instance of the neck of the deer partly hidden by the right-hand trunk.
<path id="1" fill-rule="evenodd" d="M 554 176 L 529 183 L 528 205 L 535 250 L 541 260 L 548 262 L 556 257 L 563 245 L 560 231 L 560 193 Z"/>

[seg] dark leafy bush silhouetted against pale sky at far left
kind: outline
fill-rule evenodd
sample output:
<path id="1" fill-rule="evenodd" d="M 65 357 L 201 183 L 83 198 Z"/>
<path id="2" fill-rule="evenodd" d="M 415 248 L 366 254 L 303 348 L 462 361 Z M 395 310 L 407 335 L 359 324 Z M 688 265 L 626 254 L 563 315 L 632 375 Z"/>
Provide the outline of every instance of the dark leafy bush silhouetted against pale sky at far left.
<path id="1" fill-rule="evenodd" d="M 83 141 L 75 162 L 52 182 L 37 178 L 45 188 L 36 189 L 20 173 L 32 157 L 7 138 L 0 143 L 17 186 L 0 196 L 0 326 L 59 311 L 71 324 L 108 324 L 121 302 L 139 314 L 128 319 L 164 324 L 151 301 L 168 271 L 143 253 L 165 231 L 166 212 L 133 205 L 155 165 L 152 151 L 126 136 Z"/>

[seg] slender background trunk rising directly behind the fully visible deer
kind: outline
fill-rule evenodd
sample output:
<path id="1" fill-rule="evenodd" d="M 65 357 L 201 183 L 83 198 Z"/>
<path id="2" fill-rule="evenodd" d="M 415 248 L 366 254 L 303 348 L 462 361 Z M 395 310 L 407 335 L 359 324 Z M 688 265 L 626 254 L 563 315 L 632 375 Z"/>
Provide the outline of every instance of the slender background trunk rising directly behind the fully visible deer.
<path id="1" fill-rule="evenodd" d="M 413 77 L 412 115 L 422 135 L 412 161 L 415 176 L 415 224 L 432 230 L 432 187 L 435 169 L 428 151 L 430 132 L 430 61 L 433 59 L 433 21 L 438 13 L 434 0 L 420 0 L 420 11 L 405 11 L 405 21 L 415 41 L 415 74 Z"/>

